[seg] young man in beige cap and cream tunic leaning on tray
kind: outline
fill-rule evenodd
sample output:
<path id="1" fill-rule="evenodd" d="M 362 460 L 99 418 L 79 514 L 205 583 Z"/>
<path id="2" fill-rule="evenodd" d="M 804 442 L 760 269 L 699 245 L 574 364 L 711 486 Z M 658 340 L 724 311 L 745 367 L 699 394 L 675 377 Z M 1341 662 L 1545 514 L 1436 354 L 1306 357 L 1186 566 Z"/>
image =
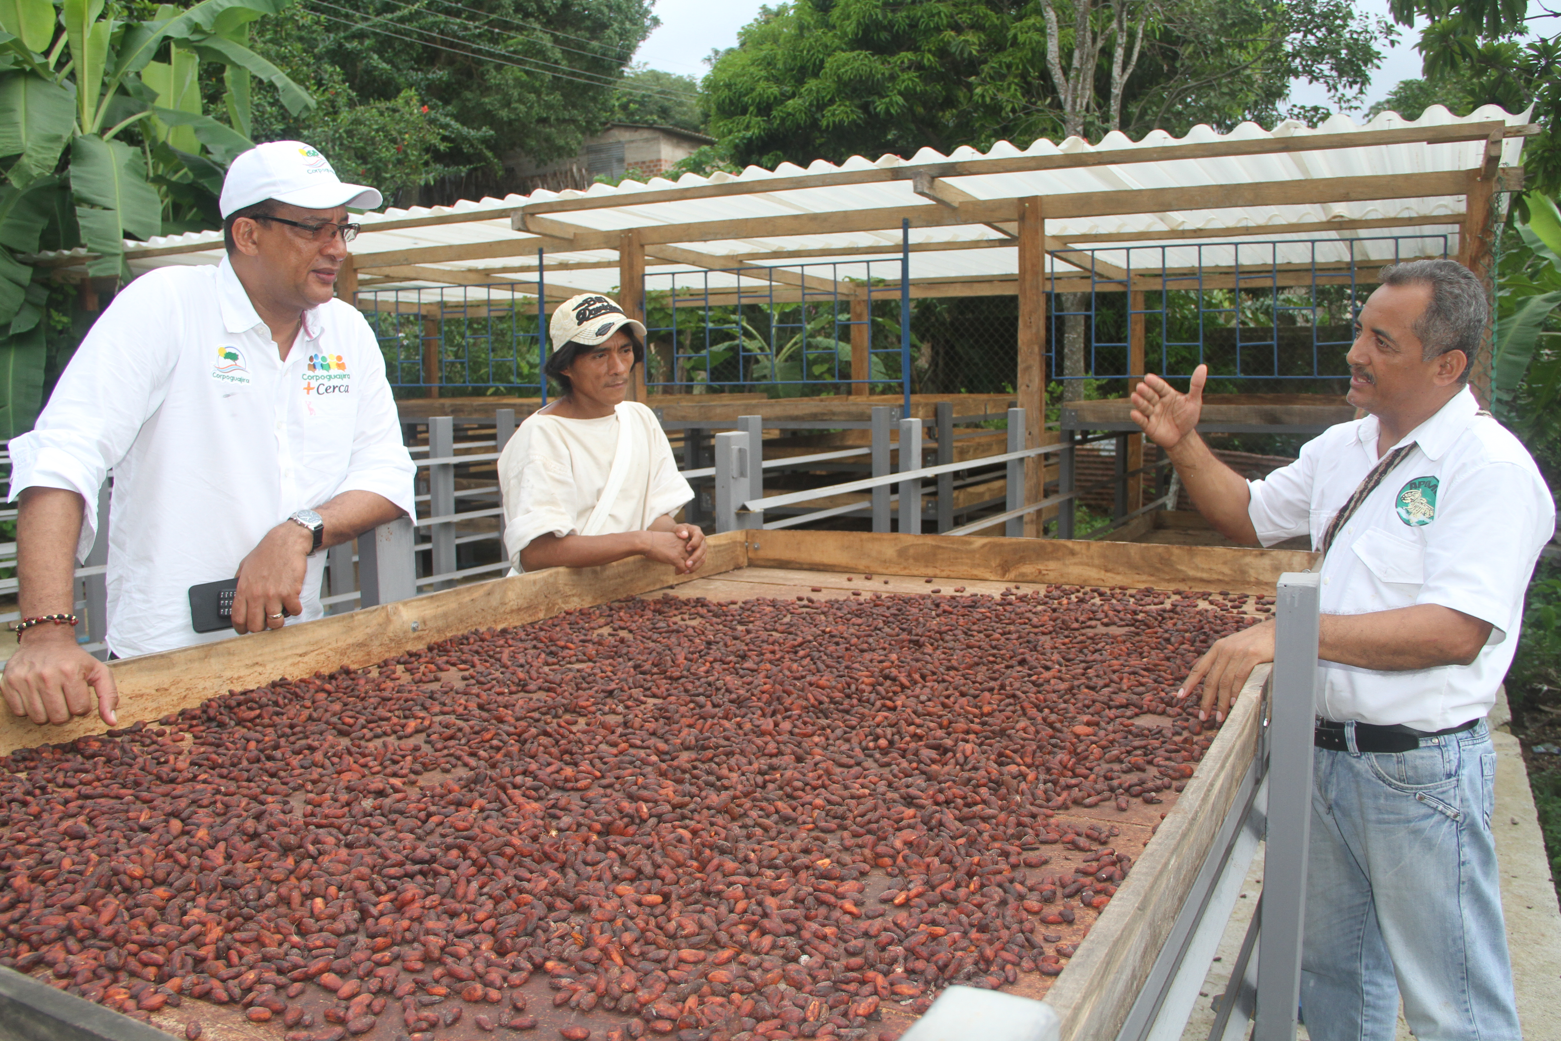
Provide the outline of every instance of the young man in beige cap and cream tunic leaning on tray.
<path id="1" fill-rule="evenodd" d="M 498 460 L 504 549 L 515 571 L 588 568 L 642 556 L 688 574 L 704 532 L 679 524 L 693 489 L 656 414 L 624 401 L 645 326 L 582 293 L 553 312 L 543 367 L 564 396 L 531 414 Z"/>

